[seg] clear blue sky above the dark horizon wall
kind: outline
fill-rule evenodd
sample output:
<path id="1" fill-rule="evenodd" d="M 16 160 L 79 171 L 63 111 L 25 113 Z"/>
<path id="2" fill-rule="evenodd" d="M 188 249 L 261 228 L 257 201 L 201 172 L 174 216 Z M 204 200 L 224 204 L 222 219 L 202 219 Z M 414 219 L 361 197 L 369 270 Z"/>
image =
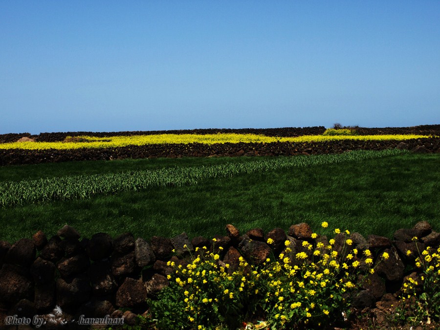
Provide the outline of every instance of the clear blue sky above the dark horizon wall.
<path id="1" fill-rule="evenodd" d="M 0 133 L 440 124 L 439 0 L 0 0 Z"/>

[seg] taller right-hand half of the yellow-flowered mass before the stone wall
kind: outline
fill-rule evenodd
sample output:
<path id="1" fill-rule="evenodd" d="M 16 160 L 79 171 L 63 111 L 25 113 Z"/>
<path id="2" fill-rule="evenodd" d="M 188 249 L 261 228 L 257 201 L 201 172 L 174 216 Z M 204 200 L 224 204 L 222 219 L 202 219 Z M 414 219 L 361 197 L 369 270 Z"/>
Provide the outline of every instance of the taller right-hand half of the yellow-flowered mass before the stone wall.
<path id="1" fill-rule="evenodd" d="M 322 223 L 324 228 L 328 225 L 326 221 Z M 350 234 L 348 230 L 343 232 L 340 229 L 334 233 Z M 303 241 L 303 251 L 296 253 L 290 248 L 291 242 L 285 242 L 286 248 L 278 260 L 260 272 L 263 279 L 270 279 L 265 294 L 266 306 L 273 306 L 269 323 L 278 324 L 280 329 L 290 329 L 289 326 L 297 322 L 310 324 L 313 319 L 334 311 L 337 301 L 343 299 L 343 293 L 356 286 L 355 275 L 361 271 L 358 260 L 347 261 L 358 254 L 357 249 L 352 248 L 352 240 L 346 237 L 344 242 L 344 249 L 350 251 L 348 254 L 344 250 L 342 253 L 333 250 L 334 239 L 327 246 L 323 242 Z M 366 253 L 371 254 L 368 250 Z M 367 261 L 373 264 L 373 259 Z"/>

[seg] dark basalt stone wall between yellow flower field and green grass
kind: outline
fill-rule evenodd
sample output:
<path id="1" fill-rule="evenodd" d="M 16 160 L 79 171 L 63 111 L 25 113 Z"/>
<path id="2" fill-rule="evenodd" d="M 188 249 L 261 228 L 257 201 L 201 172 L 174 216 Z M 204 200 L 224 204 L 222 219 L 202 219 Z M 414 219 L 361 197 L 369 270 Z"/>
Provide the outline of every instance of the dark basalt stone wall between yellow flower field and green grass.
<path id="1" fill-rule="evenodd" d="M 155 144 L 108 149 L 84 148 L 71 150 L 0 149 L 0 166 L 125 158 L 337 154 L 349 150 L 384 150 L 393 148 L 408 149 L 418 153 L 438 153 L 440 152 L 440 138 L 429 137 L 405 140 L 403 142 L 398 140 L 339 140 L 307 143 Z"/>

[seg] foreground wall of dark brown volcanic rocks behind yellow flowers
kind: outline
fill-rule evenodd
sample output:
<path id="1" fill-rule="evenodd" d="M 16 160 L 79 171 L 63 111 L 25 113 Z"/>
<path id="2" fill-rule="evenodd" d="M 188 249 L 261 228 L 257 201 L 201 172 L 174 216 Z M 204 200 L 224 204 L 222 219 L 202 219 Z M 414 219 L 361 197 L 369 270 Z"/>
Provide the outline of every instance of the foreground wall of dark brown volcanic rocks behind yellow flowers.
<path id="1" fill-rule="evenodd" d="M 278 256 L 282 252 L 292 255 L 304 252 L 303 241 L 315 246 L 318 242 L 329 242 L 326 236 L 312 239 L 312 230 L 306 223 L 292 225 L 287 233 L 275 228 L 264 234 L 255 228 L 240 235 L 230 224 L 226 232 L 227 236 L 215 237 L 215 248 L 220 260 L 230 264 L 231 270 L 238 267 L 241 256 L 250 263 L 261 264 L 272 253 Z M 415 236 L 418 242 L 412 241 Z M 362 257 L 366 249 L 374 256 L 383 252 L 390 256 L 377 264 L 374 274 L 369 274 L 363 287 L 353 295 L 352 305 L 356 308 L 381 307 L 395 302 L 405 277 L 418 276 L 414 269 L 418 251 L 426 246 L 437 248 L 440 244 L 440 233 L 433 231 L 425 221 L 418 222 L 412 229 L 397 230 L 393 241 L 351 233 L 352 245 L 346 250 L 343 246 L 347 238 L 345 234 L 336 235 L 334 249 L 348 254 L 350 249 L 356 248 L 361 265 L 366 265 L 366 257 Z M 272 243 L 267 244 L 268 239 Z M 291 252 L 284 251 L 286 240 L 290 241 Z M 50 239 L 39 231 L 32 239 L 24 238 L 12 245 L 0 241 L 0 322 L 4 322 L 6 315 L 48 315 L 58 305 L 66 320 L 78 320 L 80 315 L 110 315 L 124 316 L 125 323 L 133 324 L 136 314 L 146 313 L 146 298 L 169 284 L 166 276 L 173 269 L 167 261 L 185 266 L 191 262 L 188 251 L 203 246 L 211 249 L 212 242 L 203 237 L 190 241 L 185 233 L 171 239 L 152 237 L 150 242 L 135 238 L 131 233 L 115 239 L 106 233 L 97 233 L 90 239 L 80 240 L 80 234 L 68 225 Z M 410 255 L 408 250 L 412 251 Z M 121 310 L 127 308 L 130 310 Z M 69 329 L 68 324 L 63 327 Z M 70 327 L 77 329 L 78 325 L 71 323 Z"/>

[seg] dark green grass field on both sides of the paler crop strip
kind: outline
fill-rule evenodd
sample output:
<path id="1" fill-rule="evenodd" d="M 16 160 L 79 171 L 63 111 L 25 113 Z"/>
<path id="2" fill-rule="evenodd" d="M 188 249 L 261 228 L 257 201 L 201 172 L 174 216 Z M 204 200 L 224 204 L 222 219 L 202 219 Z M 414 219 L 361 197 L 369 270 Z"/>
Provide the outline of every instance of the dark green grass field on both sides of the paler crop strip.
<path id="1" fill-rule="evenodd" d="M 0 167 L 0 182 L 162 168 L 248 163 L 263 157 L 84 161 Z M 152 186 L 110 196 L 0 208 L 0 240 L 48 237 L 64 224 L 83 237 L 131 231 L 136 237 L 225 235 L 261 227 L 285 230 L 308 222 L 318 233 L 339 227 L 392 238 L 398 228 L 426 220 L 440 230 L 440 154 L 399 154 L 267 172 L 205 178 L 197 184 Z M 328 232 L 320 227 L 328 221 Z"/>

